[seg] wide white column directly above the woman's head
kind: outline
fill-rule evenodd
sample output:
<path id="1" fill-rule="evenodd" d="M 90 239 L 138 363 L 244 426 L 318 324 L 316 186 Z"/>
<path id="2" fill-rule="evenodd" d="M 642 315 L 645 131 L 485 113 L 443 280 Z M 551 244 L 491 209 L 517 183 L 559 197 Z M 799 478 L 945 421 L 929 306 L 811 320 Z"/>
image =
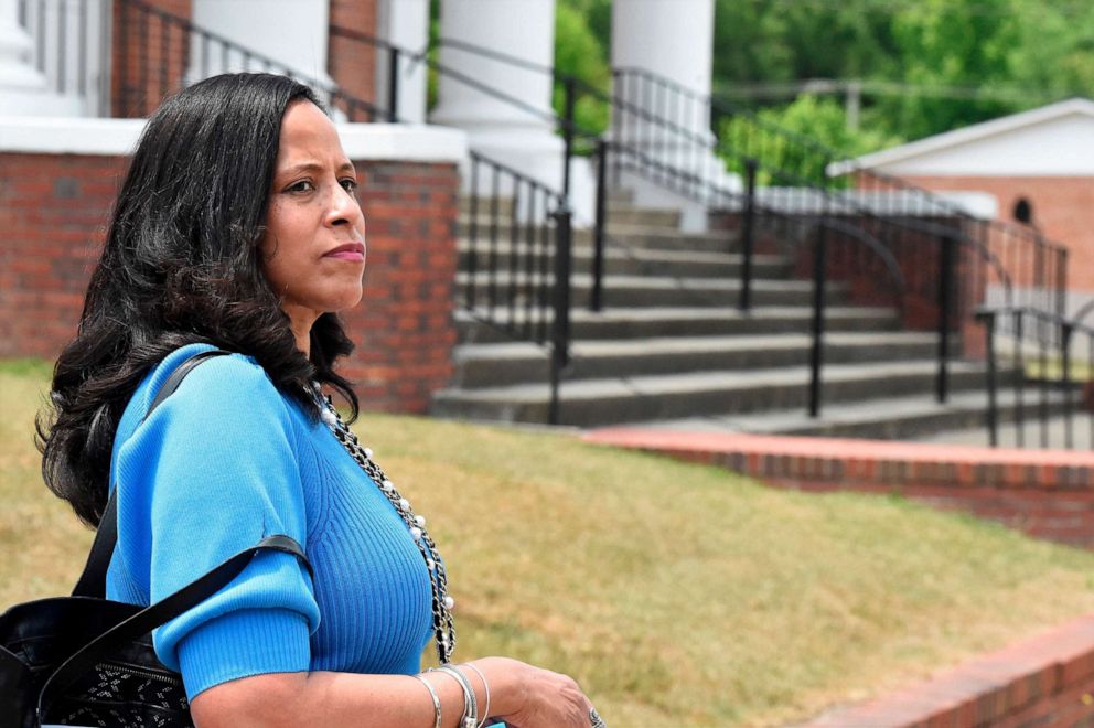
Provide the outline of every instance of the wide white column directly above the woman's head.
<path id="1" fill-rule="evenodd" d="M 234 44 L 283 64 L 294 74 L 333 85 L 326 71 L 328 0 L 193 0 L 193 23 Z M 200 45 L 195 42 L 194 45 Z M 218 46 L 208 54 L 202 73 L 197 49 L 191 52 L 191 81 L 236 71 L 262 71 L 262 64 L 244 63 L 242 54 L 222 62 Z"/>

